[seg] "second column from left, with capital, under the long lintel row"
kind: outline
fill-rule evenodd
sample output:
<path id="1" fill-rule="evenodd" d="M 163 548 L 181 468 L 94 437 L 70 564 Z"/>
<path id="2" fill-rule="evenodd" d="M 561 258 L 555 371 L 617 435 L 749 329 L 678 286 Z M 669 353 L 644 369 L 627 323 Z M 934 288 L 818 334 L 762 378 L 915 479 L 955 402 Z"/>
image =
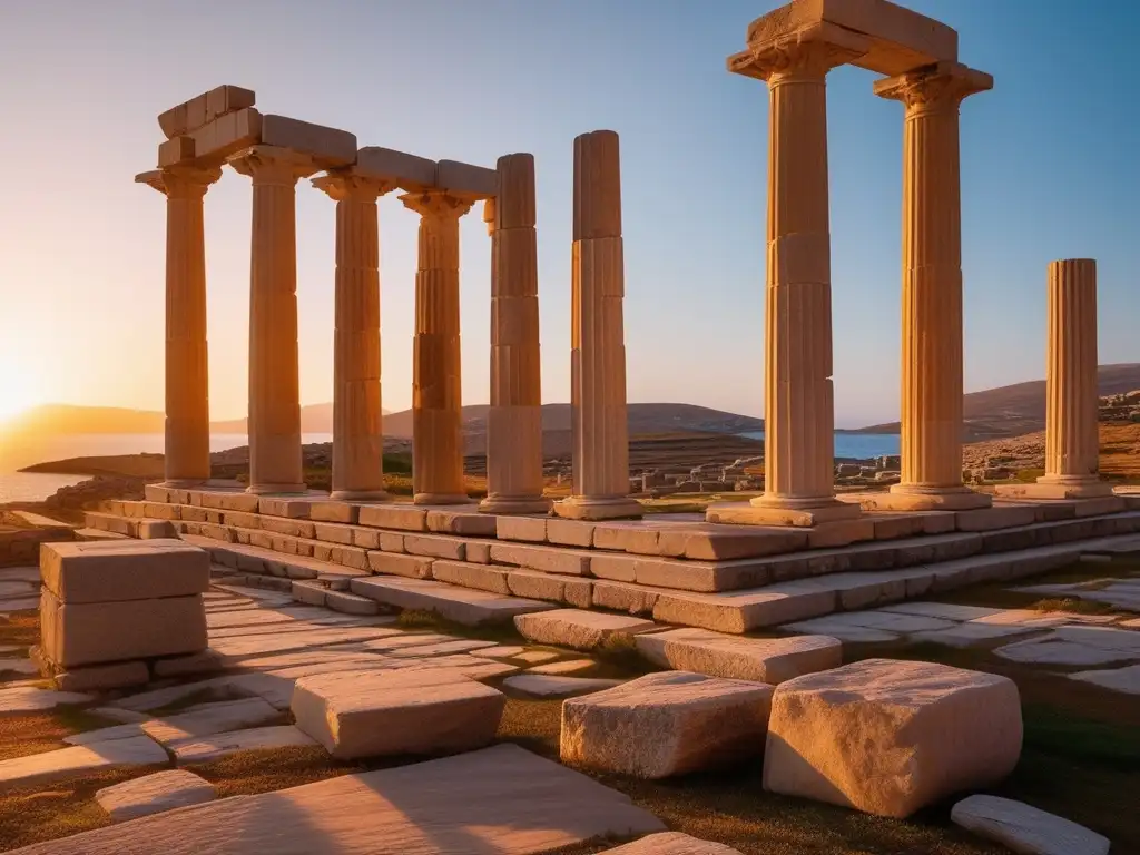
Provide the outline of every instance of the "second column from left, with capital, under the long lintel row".
<path id="1" fill-rule="evenodd" d="M 296 344 L 296 182 L 317 166 L 254 146 L 229 161 L 253 179 L 250 264 L 250 492 L 303 492 Z"/>

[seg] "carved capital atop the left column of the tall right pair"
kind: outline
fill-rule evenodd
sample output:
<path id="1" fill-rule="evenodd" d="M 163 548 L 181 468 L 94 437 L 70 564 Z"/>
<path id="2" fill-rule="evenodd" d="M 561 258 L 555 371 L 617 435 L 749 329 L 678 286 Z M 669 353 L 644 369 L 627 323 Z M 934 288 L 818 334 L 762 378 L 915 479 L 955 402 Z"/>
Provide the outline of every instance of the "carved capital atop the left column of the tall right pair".
<path id="1" fill-rule="evenodd" d="M 764 42 L 728 57 L 728 71 L 763 80 L 769 85 L 784 82 L 823 82 L 829 71 L 857 59 L 870 50 L 858 33 L 830 24 L 817 24 Z"/>

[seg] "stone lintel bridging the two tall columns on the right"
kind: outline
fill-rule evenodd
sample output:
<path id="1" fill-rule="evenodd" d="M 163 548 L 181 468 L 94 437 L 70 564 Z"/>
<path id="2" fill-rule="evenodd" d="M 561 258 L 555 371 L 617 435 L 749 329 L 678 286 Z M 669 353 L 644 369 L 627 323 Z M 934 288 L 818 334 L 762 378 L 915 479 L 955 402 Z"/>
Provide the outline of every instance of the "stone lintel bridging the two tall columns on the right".
<path id="1" fill-rule="evenodd" d="M 754 21 L 748 46 L 756 50 L 819 24 L 866 38 L 870 49 L 850 62 L 880 74 L 958 59 L 953 27 L 887 0 L 793 0 Z"/>

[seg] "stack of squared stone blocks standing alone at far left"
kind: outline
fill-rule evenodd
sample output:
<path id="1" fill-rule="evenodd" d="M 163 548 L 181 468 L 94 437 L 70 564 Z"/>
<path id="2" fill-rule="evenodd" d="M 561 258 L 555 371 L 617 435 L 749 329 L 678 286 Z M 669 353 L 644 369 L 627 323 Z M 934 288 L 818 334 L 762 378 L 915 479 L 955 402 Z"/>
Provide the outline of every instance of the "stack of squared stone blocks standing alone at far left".
<path id="1" fill-rule="evenodd" d="M 60 689 L 138 685 L 158 662 L 206 649 L 204 549 L 160 539 L 44 544 L 40 576 L 36 659 Z"/>

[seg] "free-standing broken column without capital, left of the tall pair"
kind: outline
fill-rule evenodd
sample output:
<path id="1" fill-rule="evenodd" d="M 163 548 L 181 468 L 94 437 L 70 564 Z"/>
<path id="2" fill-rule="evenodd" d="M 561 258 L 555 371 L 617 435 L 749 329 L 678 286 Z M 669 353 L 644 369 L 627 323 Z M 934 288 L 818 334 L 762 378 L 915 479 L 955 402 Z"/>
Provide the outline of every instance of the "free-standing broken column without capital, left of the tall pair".
<path id="1" fill-rule="evenodd" d="M 554 511 L 580 520 L 641 516 L 641 504 L 629 496 L 621 174 L 613 131 L 573 141 L 571 277 L 573 491 Z"/>

